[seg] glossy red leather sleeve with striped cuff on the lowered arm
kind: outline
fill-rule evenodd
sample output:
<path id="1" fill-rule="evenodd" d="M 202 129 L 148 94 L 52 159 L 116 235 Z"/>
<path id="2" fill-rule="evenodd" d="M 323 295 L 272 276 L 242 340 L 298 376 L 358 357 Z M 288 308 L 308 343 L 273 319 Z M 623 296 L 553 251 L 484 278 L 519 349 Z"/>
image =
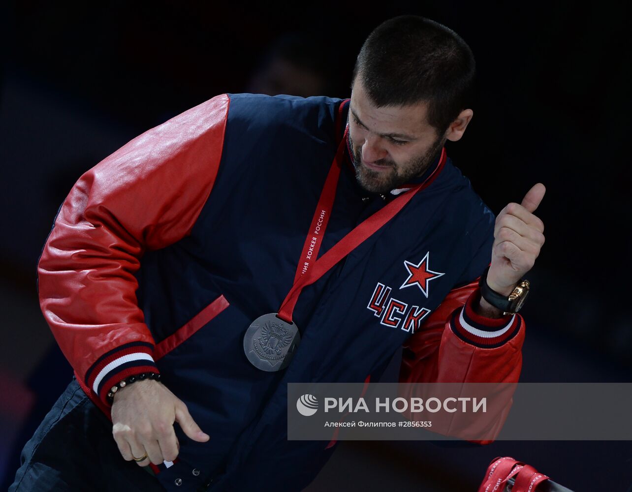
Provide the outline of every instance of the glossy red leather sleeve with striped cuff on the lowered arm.
<path id="1" fill-rule="evenodd" d="M 145 251 L 190 234 L 217 176 L 228 106 L 218 95 L 85 172 L 46 240 L 42 313 L 84 390 L 106 405 L 114 383 L 157 371 L 134 273 Z"/>

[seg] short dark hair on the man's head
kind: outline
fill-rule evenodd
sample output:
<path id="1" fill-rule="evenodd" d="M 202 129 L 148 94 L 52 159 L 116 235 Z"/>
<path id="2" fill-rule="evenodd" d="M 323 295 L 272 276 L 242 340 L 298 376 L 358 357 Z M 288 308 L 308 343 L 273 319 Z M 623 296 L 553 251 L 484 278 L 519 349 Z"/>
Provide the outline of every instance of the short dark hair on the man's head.
<path id="1" fill-rule="evenodd" d="M 402 15 L 368 35 L 353 81 L 360 76 L 377 107 L 428 101 L 428 123 L 442 135 L 470 104 L 475 71 L 474 55 L 456 32 L 421 16 Z"/>

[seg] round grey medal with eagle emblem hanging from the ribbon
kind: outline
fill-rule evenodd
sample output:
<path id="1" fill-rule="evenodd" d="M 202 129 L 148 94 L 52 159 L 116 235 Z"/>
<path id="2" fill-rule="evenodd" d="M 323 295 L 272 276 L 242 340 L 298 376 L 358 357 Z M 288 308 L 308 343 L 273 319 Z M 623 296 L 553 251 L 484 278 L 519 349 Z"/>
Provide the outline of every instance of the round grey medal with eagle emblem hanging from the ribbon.
<path id="1" fill-rule="evenodd" d="M 281 320 L 277 313 L 259 316 L 243 337 L 243 351 L 248 361 L 262 371 L 280 371 L 292 360 L 301 334 L 296 323 Z"/>

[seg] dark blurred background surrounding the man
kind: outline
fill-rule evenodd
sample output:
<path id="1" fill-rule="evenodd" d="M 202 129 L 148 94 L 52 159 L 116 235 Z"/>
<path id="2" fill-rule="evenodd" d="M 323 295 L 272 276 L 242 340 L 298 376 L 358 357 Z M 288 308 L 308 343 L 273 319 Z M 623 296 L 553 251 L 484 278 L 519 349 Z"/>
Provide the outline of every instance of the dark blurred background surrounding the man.
<path id="1" fill-rule="evenodd" d="M 536 212 L 547 240 L 528 275 L 521 381 L 630 381 L 632 77 L 623 3 L 5 3 L 0 482 L 13 477 L 18 450 L 71 375 L 39 312 L 35 268 L 76 179 L 218 93 L 349 97 L 363 40 L 406 13 L 453 28 L 477 59 L 475 116 L 447 151 L 478 194 L 499 213 L 538 181 L 547 187 Z M 310 491 L 382 483 L 475 490 L 499 455 L 575 491 L 632 483 L 629 441 L 346 442 Z"/>

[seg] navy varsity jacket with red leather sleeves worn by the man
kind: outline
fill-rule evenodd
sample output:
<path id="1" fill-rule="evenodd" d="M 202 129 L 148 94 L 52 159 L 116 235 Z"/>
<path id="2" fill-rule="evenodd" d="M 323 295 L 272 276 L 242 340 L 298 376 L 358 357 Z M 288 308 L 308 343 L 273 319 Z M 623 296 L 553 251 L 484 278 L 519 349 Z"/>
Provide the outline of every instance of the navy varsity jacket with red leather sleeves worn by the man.
<path id="1" fill-rule="evenodd" d="M 410 186 L 363 191 L 348 109 L 327 97 L 218 95 L 85 172 L 59 208 L 38 264 L 39 299 L 83 390 L 109 415 L 112 385 L 159 372 L 210 435 L 197 443 L 176 426 L 178 460 L 157 470 L 168 490 L 300 490 L 335 441 L 287 440 L 287 383 L 375 381 L 402 345 L 403 382 L 518 381 L 523 319 L 473 309 L 494 214 L 445 149 Z M 244 334 L 279 311 L 299 276 L 340 141 L 319 258 L 421 188 L 303 289 L 293 360 L 262 371 L 246 359 Z"/>

